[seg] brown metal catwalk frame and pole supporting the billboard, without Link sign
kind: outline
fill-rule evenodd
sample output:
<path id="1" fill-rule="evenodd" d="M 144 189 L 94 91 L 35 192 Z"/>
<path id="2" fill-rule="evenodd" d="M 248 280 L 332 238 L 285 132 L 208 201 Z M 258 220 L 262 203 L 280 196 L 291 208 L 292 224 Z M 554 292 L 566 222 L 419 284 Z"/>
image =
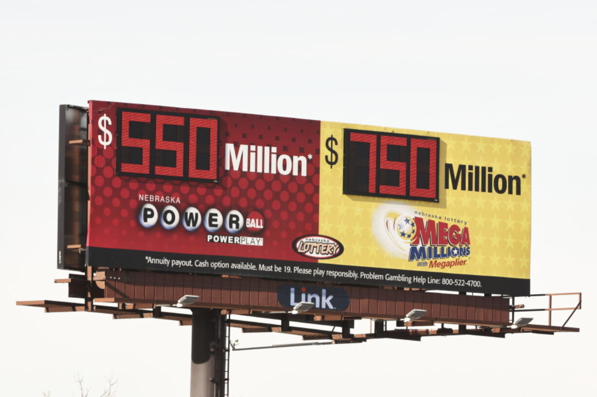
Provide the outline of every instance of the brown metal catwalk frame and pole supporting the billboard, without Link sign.
<path id="1" fill-rule="evenodd" d="M 280 311 L 275 297 L 277 280 L 217 277 L 211 275 L 159 274 L 85 268 L 85 274 L 70 274 L 54 280 L 69 287 L 69 297 L 79 302 L 54 300 L 20 301 L 17 305 L 44 308 L 45 312 L 94 312 L 112 318 L 157 318 L 192 325 L 190 395 L 223 397 L 229 395 L 229 355 L 231 350 L 253 350 L 305 345 L 362 343 L 370 339 L 420 341 L 428 336 L 472 335 L 505 337 L 506 334 L 536 333 L 553 335 L 578 332 L 566 327 L 581 309 L 580 293 L 533 294 L 549 297 L 547 308 L 527 309 L 516 305 L 515 296 L 484 296 L 467 293 L 439 293 L 418 289 L 343 286 L 351 296 L 343 312 L 313 309 L 291 314 Z M 201 298 L 185 306 L 191 314 L 170 309 L 184 294 Z M 576 307 L 555 308 L 553 297 L 577 295 Z M 404 321 L 411 309 L 427 311 L 423 317 Z M 561 326 L 552 324 L 552 311 L 571 311 Z M 513 328 L 516 312 L 547 311 L 549 322 Z M 236 318 L 242 315 L 245 319 Z M 235 316 L 235 317 L 233 317 Z M 248 320 L 246 319 L 248 317 Z M 371 319 L 369 333 L 353 333 L 355 320 Z M 402 319 L 402 320 L 401 320 Z M 455 327 L 447 327 L 453 325 Z M 230 327 L 243 333 L 277 332 L 300 336 L 304 343 L 236 348 L 230 343 Z"/>

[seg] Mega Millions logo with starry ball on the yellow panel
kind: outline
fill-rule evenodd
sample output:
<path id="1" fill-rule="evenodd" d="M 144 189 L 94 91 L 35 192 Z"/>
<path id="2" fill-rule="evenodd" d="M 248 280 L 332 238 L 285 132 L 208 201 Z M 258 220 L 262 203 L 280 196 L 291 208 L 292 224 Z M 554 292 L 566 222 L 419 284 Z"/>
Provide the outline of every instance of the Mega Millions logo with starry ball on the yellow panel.
<path id="1" fill-rule="evenodd" d="M 374 218 L 379 218 L 381 212 L 384 233 L 377 232 L 376 237 L 392 255 L 429 268 L 444 269 L 467 264 L 470 256 L 467 221 L 410 208 L 381 209 Z M 379 225 L 375 219 L 374 224 Z"/>

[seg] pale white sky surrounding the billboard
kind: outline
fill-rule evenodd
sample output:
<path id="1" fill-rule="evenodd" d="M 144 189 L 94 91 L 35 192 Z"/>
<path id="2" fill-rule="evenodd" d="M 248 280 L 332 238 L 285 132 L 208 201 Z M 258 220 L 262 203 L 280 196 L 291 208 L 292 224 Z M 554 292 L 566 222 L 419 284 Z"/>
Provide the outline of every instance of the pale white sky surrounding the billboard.
<path id="1" fill-rule="evenodd" d="M 581 333 L 235 352 L 231 395 L 597 395 L 597 3 L 489 3 L 4 2 L 2 395 L 69 396 L 76 374 L 90 397 L 110 374 L 119 396 L 188 395 L 190 327 L 14 305 L 66 298 L 58 110 L 91 99 L 531 141 L 531 291 L 582 291 Z"/>

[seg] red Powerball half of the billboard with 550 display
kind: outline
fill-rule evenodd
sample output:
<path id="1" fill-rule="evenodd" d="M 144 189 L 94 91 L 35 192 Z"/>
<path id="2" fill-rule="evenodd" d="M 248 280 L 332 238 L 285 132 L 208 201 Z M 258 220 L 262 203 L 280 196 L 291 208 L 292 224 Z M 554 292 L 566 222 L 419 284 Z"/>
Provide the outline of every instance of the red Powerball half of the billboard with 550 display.
<path id="1" fill-rule="evenodd" d="M 91 265 L 206 270 L 162 252 L 238 255 L 239 270 L 316 262 L 291 246 L 318 230 L 318 122 L 98 101 L 90 115 Z"/>

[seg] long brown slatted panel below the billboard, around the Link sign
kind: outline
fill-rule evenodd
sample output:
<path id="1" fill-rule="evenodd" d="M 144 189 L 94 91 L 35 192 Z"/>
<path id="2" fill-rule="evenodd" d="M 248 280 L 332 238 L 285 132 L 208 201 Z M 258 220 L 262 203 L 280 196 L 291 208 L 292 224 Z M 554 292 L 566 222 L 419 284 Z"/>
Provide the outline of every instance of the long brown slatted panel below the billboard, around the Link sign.
<path id="1" fill-rule="evenodd" d="M 199 304 L 205 307 L 280 311 L 277 292 L 281 284 L 284 283 L 256 278 L 107 271 L 106 297 L 119 303 L 175 303 L 183 294 L 196 294 L 201 297 Z M 500 325 L 508 320 L 509 300 L 501 297 L 343 288 L 350 298 L 346 311 L 313 309 L 312 314 L 398 319 L 412 309 L 424 309 L 426 317 L 438 322 Z"/>

